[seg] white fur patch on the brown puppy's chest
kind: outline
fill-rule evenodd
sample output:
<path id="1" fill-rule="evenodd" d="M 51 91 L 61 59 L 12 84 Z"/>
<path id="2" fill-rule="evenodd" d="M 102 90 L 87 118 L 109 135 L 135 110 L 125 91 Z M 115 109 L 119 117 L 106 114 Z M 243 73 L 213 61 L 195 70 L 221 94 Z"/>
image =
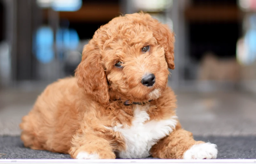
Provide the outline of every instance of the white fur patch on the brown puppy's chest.
<path id="1" fill-rule="evenodd" d="M 148 121 L 148 106 L 136 105 L 132 126 L 115 126 L 126 139 L 126 150 L 118 152 L 120 158 L 145 158 L 156 142 L 172 132 L 176 126 L 177 116 L 167 120 Z M 147 123 L 145 123 L 148 121 Z"/>

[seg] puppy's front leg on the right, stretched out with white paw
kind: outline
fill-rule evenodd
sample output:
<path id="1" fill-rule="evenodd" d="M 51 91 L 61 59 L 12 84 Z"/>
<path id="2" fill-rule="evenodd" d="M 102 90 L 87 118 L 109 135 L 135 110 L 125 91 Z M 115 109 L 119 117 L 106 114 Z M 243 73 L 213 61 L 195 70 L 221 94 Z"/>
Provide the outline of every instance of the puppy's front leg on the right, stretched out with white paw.
<path id="1" fill-rule="evenodd" d="M 217 146 L 203 141 L 195 141 L 191 132 L 176 129 L 151 148 L 152 156 L 162 159 L 215 159 Z"/>

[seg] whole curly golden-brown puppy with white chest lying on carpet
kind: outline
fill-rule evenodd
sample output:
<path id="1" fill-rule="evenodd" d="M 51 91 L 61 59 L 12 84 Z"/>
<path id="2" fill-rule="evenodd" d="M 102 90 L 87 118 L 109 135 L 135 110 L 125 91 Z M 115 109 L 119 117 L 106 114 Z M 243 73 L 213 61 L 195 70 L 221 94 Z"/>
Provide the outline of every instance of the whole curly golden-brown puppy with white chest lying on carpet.
<path id="1" fill-rule="evenodd" d="M 166 87 L 174 34 L 144 13 L 101 26 L 75 78 L 47 86 L 20 128 L 24 145 L 77 159 L 216 158 L 216 145 L 181 129 Z"/>

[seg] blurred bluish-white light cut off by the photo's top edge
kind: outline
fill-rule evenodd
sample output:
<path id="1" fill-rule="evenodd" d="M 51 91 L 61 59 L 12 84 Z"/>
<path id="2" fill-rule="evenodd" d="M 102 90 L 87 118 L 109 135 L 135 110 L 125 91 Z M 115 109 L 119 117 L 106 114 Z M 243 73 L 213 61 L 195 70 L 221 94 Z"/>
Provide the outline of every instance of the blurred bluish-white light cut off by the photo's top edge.
<path id="1" fill-rule="evenodd" d="M 52 9 L 55 11 L 77 11 L 82 6 L 82 0 L 53 0 Z"/>

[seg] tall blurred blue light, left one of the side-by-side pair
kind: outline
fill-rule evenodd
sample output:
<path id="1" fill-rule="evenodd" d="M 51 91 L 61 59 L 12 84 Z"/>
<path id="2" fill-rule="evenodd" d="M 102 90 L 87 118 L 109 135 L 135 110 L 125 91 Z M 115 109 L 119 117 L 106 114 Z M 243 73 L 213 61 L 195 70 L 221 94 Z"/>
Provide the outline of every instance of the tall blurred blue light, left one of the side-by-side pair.
<path id="1" fill-rule="evenodd" d="M 53 31 L 50 27 L 40 27 L 36 31 L 34 51 L 39 62 L 49 63 L 53 60 L 53 40 Z"/>

